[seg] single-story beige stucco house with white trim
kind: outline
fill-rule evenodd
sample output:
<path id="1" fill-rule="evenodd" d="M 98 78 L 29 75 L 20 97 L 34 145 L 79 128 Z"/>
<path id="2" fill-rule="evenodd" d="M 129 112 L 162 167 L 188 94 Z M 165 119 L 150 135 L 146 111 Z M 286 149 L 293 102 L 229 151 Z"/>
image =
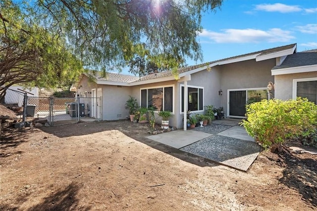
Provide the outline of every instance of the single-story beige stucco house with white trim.
<path id="1" fill-rule="evenodd" d="M 154 104 L 159 110 L 171 111 L 169 125 L 182 128 L 184 111 L 204 113 L 206 105 L 223 107 L 226 117 L 243 118 L 245 105 L 251 98 L 267 98 L 269 82 L 276 84 L 275 97 L 286 99 L 293 98 L 292 80 L 306 82 L 310 78 L 315 81 L 316 95 L 316 59 L 313 67 L 309 63 L 304 69 L 299 68 L 300 71 L 286 73 L 287 68 L 298 67 L 288 66 L 295 55 L 305 57 L 297 53 L 296 43 L 180 68 L 176 76 L 170 71 L 141 78 L 108 73 L 106 77 L 97 74 L 89 80 L 83 74 L 72 90 L 80 96 L 101 96 L 102 120 L 127 118 L 128 111 L 124 107 L 131 95 L 137 98 L 140 106 Z M 311 92 L 314 94 L 314 88 Z M 159 123 L 159 118 L 157 120 Z"/>

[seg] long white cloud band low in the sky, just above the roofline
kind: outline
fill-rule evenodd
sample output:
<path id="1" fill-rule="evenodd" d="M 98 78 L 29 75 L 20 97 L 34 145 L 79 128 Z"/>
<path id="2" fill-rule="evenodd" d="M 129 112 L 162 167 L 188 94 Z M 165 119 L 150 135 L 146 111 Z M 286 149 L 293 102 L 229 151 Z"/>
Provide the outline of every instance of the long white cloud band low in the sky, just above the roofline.
<path id="1" fill-rule="evenodd" d="M 258 29 L 225 29 L 222 31 L 219 33 L 204 29 L 199 36 L 217 43 L 289 42 L 295 38 L 291 36 L 290 31 L 277 28 L 267 31 Z"/>

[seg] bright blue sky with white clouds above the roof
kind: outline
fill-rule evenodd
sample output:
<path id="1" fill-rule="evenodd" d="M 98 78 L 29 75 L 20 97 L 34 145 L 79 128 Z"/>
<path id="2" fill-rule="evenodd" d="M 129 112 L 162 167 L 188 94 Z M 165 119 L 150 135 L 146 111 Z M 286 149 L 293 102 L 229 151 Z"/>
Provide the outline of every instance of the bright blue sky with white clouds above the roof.
<path id="1" fill-rule="evenodd" d="M 202 26 L 203 61 L 187 65 L 292 43 L 298 51 L 316 49 L 317 0 L 223 0 L 215 13 L 204 14 Z"/>

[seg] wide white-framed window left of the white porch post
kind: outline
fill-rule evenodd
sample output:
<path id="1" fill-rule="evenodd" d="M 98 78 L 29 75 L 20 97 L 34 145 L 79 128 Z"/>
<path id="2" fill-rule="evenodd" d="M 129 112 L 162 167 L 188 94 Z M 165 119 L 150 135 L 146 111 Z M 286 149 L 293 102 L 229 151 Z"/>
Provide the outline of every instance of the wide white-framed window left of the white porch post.
<path id="1" fill-rule="evenodd" d="M 141 107 L 173 112 L 173 86 L 141 89 Z"/>

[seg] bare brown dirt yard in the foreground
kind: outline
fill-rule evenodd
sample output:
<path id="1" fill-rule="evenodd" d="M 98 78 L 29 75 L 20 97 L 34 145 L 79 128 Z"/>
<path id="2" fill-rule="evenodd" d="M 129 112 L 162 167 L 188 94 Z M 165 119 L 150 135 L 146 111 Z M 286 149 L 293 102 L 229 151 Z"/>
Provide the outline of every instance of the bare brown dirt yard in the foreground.
<path id="1" fill-rule="evenodd" d="M 0 210 L 317 210 L 317 156 L 262 152 L 242 172 L 147 132 L 128 121 L 4 131 Z"/>

